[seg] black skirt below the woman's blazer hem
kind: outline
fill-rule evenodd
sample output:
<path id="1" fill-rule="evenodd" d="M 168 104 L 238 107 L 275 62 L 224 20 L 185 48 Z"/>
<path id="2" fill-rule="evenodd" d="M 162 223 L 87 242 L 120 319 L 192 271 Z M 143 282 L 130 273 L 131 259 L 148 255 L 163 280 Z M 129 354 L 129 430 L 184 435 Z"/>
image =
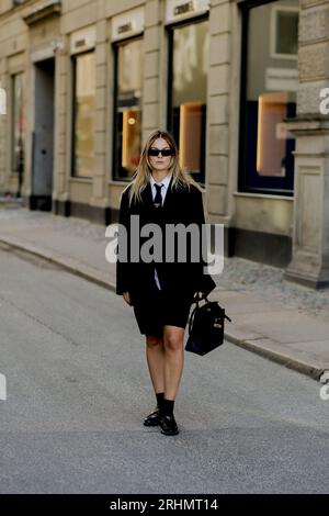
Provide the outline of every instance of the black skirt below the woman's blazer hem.
<path id="1" fill-rule="evenodd" d="M 163 326 L 185 328 L 193 299 L 166 295 L 155 284 L 143 303 L 134 304 L 134 313 L 140 334 L 162 336 Z"/>

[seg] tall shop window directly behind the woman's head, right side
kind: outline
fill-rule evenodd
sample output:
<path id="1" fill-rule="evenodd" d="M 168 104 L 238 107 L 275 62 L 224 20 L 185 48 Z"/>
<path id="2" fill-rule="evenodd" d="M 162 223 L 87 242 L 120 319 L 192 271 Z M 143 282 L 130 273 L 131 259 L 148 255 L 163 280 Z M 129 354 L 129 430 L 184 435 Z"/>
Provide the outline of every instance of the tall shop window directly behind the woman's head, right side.
<path id="1" fill-rule="evenodd" d="M 180 149 L 180 165 L 196 181 L 205 178 L 208 21 L 169 30 L 168 128 Z"/>

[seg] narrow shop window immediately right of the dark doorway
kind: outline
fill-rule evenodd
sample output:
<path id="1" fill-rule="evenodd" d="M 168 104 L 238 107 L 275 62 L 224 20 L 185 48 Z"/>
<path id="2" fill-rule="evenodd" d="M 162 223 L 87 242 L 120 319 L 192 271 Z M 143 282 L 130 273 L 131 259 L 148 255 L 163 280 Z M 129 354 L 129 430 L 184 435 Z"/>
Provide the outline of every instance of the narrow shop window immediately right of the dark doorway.
<path id="1" fill-rule="evenodd" d="M 73 175 L 92 177 L 94 170 L 95 53 L 73 57 Z"/>

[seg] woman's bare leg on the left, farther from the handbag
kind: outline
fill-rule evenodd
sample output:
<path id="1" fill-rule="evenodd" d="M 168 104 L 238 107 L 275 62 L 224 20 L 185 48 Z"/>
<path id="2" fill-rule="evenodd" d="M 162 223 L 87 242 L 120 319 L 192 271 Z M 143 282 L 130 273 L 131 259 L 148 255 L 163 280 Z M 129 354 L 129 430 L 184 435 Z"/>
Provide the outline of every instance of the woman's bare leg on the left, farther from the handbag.
<path id="1" fill-rule="evenodd" d="M 162 337 L 146 336 L 146 358 L 155 392 L 164 392 L 164 348 Z"/>

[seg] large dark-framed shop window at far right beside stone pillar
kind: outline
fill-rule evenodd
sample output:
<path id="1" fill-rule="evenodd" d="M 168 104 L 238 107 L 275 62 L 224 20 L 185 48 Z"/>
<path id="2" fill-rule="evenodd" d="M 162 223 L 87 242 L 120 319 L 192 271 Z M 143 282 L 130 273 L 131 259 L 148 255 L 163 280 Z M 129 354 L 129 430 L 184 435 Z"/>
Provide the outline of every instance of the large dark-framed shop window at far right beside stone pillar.
<path id="1" fill-rule="evenodd" d="M 242 11 L 239 189 L 291 195 L 296 114 L 298 0 Z"/>

